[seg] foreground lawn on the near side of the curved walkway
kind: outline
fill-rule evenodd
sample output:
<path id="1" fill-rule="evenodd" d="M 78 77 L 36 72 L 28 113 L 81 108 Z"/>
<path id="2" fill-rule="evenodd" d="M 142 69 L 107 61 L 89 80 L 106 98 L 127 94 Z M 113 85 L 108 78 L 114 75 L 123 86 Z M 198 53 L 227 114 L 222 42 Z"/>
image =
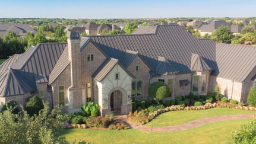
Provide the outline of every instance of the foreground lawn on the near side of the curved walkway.
<path id="1" fill-rule="evenodd" d="M 248 121 L 219 121 L 169 133 L 150 133 L 134 129 L 121 131 L 65 129 L 61 133 L 69 142 L 86 140 L 91 143 L 234 143 L 232 133 Z"/>

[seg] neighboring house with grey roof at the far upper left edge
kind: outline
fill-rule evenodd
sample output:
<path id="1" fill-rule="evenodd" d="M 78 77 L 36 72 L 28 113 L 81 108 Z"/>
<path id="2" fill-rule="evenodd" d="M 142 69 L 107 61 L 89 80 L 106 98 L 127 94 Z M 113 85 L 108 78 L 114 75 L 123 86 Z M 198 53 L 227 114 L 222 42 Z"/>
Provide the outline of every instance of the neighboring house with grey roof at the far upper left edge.
<path id="1" fill-rule="evenodd" d="M 28 24 L 0 24 L 0 37 L 4 37 L 7 34 L 7 31 L 13 31 L 17 34 L 17 37 L 23 37 L 27 31 L 31 33 L 36 33 L 36 30 Z"/>

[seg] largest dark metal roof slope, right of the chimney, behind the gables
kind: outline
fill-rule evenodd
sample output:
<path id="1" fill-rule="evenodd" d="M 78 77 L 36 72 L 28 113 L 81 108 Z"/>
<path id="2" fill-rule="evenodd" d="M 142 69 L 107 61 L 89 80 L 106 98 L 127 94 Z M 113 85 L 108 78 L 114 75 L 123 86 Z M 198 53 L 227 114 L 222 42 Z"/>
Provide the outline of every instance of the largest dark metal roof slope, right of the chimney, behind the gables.
<path id="1" fill-rule="evenodd" d="M 140 53 L 147 65 L 156 72 L 158 57 L 178 73 L 191 73 L 191 53 L 200 55 L 211 69 L 215 69 L 215 45 L 211 40 L 199 40 L 177 24 L 158 25 L 154 34 L 92 36 L 91 40 L 108 57 L 122 62 L 127 50 Z M 170 71 L 173 72 L 173 71 Z"/>

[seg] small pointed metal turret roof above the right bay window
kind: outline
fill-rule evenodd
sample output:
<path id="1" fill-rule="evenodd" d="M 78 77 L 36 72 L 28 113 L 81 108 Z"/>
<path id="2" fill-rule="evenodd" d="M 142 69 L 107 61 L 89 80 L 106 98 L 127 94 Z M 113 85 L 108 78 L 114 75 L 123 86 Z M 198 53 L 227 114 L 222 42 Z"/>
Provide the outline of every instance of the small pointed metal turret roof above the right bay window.
<path id="1" fill-rule="evenodd" d="M 210 71 L 210 66 L 199 56 L 198 54 L 192 53 L 191 55 L 191 71 Z"/>

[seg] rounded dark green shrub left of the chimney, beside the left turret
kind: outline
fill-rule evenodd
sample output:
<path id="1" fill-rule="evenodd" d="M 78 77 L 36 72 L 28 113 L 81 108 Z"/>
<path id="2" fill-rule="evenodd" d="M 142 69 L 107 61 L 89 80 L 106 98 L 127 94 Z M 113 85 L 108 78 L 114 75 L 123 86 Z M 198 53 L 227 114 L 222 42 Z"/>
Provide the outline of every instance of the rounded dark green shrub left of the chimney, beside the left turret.
<path id="1" fill-rule="evenodd" d="M 33 95 L 33 97 L 29 99 L 25 108 L 30 117 L 34 116 L 34 114 L 38 115 L 39 111 L 42 109 L 43 101 L 36 95 Z"/>

